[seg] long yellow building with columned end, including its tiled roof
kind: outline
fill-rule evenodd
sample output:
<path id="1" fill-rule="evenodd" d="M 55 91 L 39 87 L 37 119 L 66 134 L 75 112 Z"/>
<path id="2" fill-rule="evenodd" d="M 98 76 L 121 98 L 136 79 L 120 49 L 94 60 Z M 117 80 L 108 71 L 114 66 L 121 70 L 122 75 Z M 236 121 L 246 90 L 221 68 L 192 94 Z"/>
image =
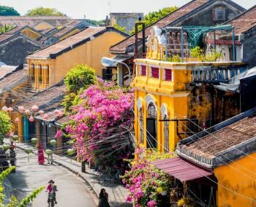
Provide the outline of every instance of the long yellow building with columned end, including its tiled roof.
<path id="1" fill-rule="evenodd" d="M 36 89 L 45 89 L 66 77 L 75 64 L 87 64 L 102 77 L 100 60 L 109 47 L 125 38 L 115 28 L 89 27 L 27 57 L 29 77 Z"/>

